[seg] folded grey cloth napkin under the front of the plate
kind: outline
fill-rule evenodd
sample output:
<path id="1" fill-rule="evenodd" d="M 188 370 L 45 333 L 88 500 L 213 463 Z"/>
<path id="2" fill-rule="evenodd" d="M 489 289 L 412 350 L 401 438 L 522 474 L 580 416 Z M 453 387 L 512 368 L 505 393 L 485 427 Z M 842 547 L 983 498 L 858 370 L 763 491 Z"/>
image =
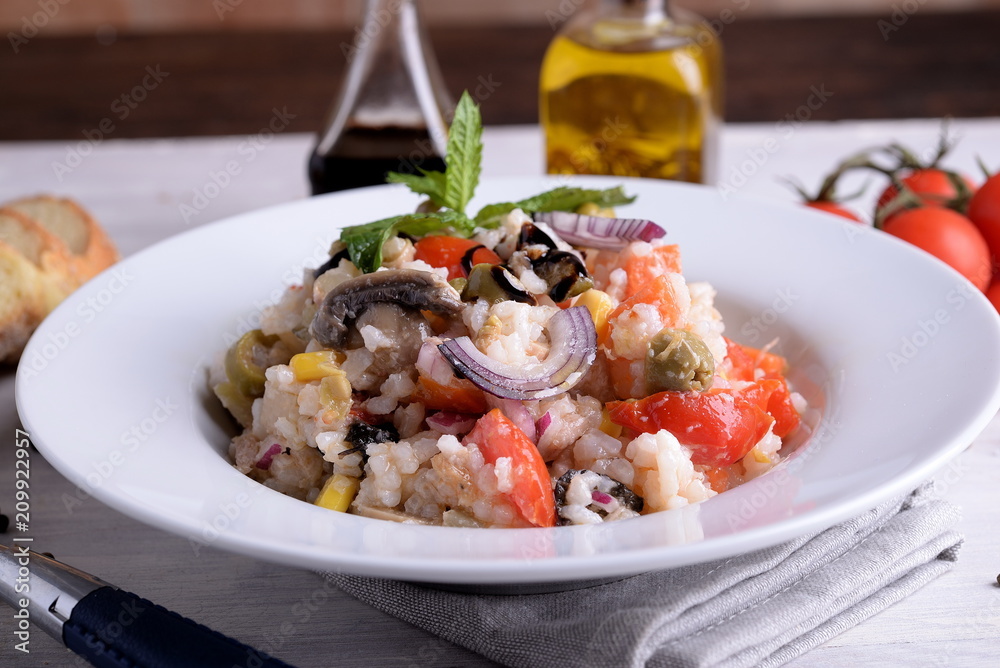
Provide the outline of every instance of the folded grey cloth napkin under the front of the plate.
<path id="1" fill-rule="evenodd" d="M 508 666 L 779 666 L 951 568 L 958 509 L 925 485 L 775 547 L 548 594 L 484 596 L 350 575 L 356 598 Z"/>

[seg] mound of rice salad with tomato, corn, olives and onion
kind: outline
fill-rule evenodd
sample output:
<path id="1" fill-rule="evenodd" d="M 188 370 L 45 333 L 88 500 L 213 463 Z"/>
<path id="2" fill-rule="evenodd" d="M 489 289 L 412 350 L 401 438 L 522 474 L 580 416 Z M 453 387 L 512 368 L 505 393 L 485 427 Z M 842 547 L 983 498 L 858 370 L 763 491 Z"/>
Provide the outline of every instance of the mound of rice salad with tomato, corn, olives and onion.
<path id="1" fill-rule="evenodd" d="M 726 338 L 666 231 L 603 204 L 394 229 L 368 267 L 342 236 L 211 373 L 234 466 L 463 527 L 625 520 L 770 470 L 806 410 L 785 361 Z"/>

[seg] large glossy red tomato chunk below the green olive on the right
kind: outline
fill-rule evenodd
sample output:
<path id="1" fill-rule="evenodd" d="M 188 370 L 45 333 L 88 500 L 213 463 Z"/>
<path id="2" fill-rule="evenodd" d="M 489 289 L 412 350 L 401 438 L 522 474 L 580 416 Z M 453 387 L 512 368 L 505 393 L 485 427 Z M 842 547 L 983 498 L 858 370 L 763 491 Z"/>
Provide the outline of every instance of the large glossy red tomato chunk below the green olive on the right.
<path id="1" fill-rule="evenodd" d="M 691 448 L 693 463 L 724 467 L 742 459 L 771 428 L 774 418 L 759 405 L 771 392 L 660 392 L 611 402 L 608 409 L 615 424 L 646 433 L 666 429 Z"/>

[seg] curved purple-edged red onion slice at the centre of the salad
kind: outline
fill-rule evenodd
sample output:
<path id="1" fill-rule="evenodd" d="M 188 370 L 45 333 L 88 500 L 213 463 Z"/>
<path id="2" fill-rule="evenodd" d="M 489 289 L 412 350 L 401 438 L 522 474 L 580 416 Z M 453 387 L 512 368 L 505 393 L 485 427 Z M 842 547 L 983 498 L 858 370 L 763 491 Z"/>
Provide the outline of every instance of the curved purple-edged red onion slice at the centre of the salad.
<path id="1" fill-rule="evenodd" d="M 544 399 L 583 379 L 597 357 L 597 331 L 590 311 L 573 306 L 549 318 L 549 354 L 535 364 L 498 362 L 484 355 L 467 336 L 449 339 L 438 350 L 456 372 L 492 395 L 505 399 Z"/>

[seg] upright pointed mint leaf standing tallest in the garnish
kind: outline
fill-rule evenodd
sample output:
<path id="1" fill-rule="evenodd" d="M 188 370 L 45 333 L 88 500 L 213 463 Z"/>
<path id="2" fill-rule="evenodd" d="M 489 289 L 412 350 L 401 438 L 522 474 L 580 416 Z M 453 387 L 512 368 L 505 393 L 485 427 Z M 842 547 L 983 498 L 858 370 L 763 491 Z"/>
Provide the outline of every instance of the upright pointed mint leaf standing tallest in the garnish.
<path id="1" fill-rule="evenodd" d="M 455 118 L 448 130 L 448 155 L 445 156 L 445 190 L 442 204 L 455 211 L 465 211 L 479 183 L 483 159 L 483 120 L 479 106 L 469 92 L 455 107 Z"/>

